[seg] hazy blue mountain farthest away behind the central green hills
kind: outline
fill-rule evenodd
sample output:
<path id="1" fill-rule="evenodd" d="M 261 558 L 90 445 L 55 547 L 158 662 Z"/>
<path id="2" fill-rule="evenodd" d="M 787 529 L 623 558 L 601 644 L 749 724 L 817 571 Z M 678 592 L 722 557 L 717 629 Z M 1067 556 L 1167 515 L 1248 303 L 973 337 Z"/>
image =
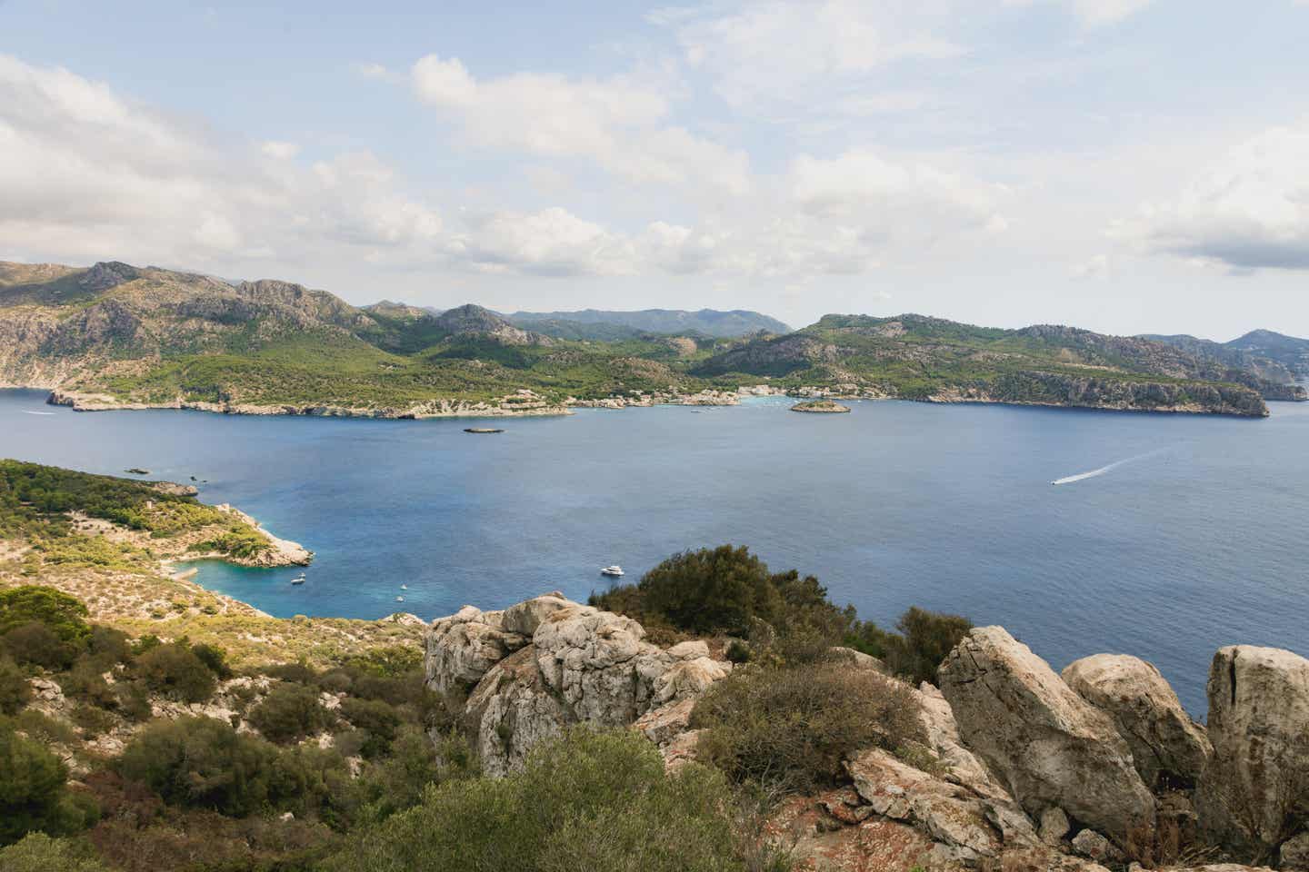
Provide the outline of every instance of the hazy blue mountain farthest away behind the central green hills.
<path id="1" fill-rule="evenodd" d="M 575 326 L 619 326 L 645 333 L 699 335 L 720 339 L 736 339 L 761 331 L 767 333 L 789 333 L 791 328 L 775 318 L 755 311 L 734 309 L 719 311 L 702 309 L 686 311 L 681 309 L 645 309 L 641 311 L 611 311 L 583 309 L 580 311 L 558 312 L 513 312 L 505 315 L 511 324 L 550 333 L 554 329 L 579 329 Z M 613 339 L 611 335 L 576 336 L 577 339 Z"/>

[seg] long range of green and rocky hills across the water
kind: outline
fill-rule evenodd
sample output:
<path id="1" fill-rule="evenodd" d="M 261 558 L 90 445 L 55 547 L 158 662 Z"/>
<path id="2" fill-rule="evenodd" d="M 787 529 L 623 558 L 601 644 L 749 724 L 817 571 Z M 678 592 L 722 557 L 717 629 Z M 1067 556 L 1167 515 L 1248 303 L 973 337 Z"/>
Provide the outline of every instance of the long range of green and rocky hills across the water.
<path id="1" fill-rule="evenodd" d="M 301 285 L 124 263 L 0 263 L 0 384 L 77 408 L 262 414 L 562 413 L 579 403 L 829 397 L 1263 416 L 1302 400 L 1309 340 L 1220 345 L 922 315 L 355 307 Z"/>

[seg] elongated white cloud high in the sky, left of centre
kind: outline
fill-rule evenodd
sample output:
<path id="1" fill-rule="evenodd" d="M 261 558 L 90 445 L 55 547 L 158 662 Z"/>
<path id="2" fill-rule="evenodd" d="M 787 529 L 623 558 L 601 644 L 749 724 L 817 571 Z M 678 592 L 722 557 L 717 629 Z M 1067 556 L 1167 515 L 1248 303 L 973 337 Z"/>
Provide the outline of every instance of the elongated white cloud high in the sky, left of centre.
<path id="1" fill-rule="evenodd" d="M 750 188 L 744 150 L 665 124 L 670 105 L 661 82 L 541 73 L 478 81 L 458 58 L 437 55 L 419 59 L 411 73 L 415 93 L 453 118 L 473 145 L 593 159 L 640 183 L 737 195 Z"/>

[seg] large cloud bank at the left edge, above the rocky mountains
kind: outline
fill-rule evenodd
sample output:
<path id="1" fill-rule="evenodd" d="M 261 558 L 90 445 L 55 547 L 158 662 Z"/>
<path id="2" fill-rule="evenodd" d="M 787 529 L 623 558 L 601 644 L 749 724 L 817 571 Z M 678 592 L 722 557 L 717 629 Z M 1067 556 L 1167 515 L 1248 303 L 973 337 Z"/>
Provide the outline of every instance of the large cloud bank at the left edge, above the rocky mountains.
<path id="1" fill-rule="evenodd" d="M 232 145 L 62 68 L 0 55 L 0 238 L 89 263 L 207 265 L 329 242 L 429 242 L 436 212 L 372 156 L 304 170 L 291 143 Z"/>

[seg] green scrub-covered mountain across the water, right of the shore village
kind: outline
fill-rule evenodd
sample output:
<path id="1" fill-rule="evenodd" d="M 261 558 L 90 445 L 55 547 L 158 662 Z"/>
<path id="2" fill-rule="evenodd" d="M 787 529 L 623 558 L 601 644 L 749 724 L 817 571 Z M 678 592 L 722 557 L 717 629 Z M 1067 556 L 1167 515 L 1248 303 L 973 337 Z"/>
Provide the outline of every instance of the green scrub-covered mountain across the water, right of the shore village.
<path id="1" fill-rule="evenodd" d="M 795 333 L 715 354 L 691 373 L 770 378 L 793 390 L 835 384 L 846 396 L 1267 413 L 1259 392 L 1241 383 L 1253 375 L 1215 369 L 1164 343 L 1058 326 L 974 327 L 924 315 L 825 315 Z"/>

